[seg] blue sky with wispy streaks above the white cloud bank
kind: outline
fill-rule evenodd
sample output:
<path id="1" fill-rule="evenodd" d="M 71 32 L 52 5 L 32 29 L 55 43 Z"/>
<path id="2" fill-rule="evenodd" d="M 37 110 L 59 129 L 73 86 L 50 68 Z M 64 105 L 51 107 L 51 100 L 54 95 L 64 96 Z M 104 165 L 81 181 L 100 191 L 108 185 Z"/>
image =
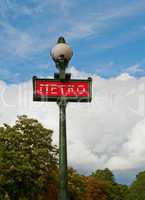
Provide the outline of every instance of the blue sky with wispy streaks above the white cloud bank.
<path id="1" fill-rule="evenodd" d="M 49 52 L 60 35 L 78 70 L 105 78 L 145 75 L 144 0 L 0 0 L 0 79 L 53 74 Z"/>

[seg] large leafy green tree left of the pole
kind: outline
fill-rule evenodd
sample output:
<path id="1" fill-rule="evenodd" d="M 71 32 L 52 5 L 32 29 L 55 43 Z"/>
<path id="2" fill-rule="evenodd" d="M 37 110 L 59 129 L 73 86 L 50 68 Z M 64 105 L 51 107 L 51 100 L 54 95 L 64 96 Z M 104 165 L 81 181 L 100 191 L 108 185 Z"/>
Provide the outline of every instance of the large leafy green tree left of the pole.
<path id="1" fill-rule="evenodd" d="M 55 181 L 57 153 L 52 131 L 35 119 L 23 115 L 0 127 L 0 198 L 41 199 Z"/>

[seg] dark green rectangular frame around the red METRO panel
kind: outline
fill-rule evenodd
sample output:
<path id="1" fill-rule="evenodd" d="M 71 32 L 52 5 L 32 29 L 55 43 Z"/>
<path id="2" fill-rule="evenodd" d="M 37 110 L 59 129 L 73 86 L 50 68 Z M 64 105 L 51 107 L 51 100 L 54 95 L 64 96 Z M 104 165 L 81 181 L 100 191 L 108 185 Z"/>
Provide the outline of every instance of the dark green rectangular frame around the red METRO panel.
<path id="1" fill-rule="evenodd" d="M 51 82 L 62 82 L 69 83 L 69 82 L 87 82 L 88 83 L 88 96 L 38 96 L 36 93 L 36 81 L 51 81 Z M 91 102 L 92 100 L 92 78 L 89 77 L 88 79 L 65 79 L 60 81 L 59 79 L 49 79 L 49 78 L 38 78 L 36 76 L 33 77 L 33 101 L 39 102 L 60 102 L 61 100 L 65 100 L 66 102 Z"/>

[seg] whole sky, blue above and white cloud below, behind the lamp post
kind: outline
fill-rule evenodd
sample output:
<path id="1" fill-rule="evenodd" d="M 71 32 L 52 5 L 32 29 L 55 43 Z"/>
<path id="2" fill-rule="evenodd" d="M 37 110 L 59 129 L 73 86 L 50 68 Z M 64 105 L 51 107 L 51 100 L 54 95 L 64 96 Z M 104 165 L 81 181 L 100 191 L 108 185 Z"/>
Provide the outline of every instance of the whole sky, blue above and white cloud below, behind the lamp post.
<path id="1" fill-rule="evenodd" d="M 58 107 L 32 101 L 31 79 L 53 76 L 61 35 L 73 77 L 93 78 L 92 103 L 67 107 L 69 165 L 129 182 L 145 170 L 145 0 L 0 0 L 0 124 L 27 114 L 58 142 Z"/>

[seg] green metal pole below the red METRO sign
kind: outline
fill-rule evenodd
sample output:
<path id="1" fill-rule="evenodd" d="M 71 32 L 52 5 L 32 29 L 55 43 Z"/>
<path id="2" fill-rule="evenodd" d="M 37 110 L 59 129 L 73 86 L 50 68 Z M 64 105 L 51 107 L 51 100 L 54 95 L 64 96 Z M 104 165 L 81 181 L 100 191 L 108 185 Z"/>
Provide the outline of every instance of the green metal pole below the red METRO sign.
<path id="1" fill-rule="evenodd" d="M 68 200 L 67 196 L 67 138 L 66 138 L 66 102 L 59 102 L 59 200 Z"/>

